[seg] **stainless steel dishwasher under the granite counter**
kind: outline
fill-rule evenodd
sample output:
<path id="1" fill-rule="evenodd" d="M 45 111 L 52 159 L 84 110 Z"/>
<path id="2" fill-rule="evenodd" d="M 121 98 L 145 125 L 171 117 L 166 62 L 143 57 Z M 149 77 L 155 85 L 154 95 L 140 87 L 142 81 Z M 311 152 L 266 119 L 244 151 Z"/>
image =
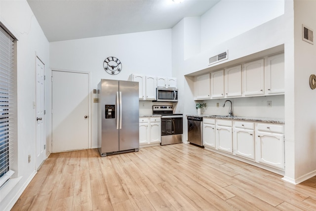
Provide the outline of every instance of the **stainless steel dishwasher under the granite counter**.
<path id="1" fill-rule="evenodd" d="M 203 118 L 188 116 L 188 141 L 203 147 Z"/>

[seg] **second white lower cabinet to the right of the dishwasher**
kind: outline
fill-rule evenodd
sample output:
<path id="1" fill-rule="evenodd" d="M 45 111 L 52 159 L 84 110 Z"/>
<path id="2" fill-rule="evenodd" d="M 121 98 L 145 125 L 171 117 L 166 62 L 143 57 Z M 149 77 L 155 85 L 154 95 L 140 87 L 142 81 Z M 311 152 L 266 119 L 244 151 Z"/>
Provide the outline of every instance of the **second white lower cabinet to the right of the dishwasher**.
<path id="1" fill-rule="evenodd" d="M 233 121 L 216 120 L 216 149 L 233 154 Z"/>

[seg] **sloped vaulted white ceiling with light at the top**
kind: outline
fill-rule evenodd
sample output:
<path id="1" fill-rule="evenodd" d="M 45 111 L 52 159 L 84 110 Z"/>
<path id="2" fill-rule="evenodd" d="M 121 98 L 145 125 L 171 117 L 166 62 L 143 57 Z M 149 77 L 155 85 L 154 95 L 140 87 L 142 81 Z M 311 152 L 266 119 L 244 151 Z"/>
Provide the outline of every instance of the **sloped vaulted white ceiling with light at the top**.
<path id="1" fill-rule="evenodd" d="M 219 0 L 27 0 L 49 42 L 170 29 Z"/>

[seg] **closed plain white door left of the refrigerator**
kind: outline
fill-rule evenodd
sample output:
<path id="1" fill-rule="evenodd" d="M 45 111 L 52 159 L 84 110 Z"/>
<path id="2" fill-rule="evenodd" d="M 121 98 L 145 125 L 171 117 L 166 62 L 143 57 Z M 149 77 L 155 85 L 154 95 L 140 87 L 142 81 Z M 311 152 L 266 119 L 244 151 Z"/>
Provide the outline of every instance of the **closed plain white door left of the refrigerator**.
<path id="1" fill-rule="evenodd" d="M 89 76 L 52 71 L 52 152 L 87 149 Z"/>

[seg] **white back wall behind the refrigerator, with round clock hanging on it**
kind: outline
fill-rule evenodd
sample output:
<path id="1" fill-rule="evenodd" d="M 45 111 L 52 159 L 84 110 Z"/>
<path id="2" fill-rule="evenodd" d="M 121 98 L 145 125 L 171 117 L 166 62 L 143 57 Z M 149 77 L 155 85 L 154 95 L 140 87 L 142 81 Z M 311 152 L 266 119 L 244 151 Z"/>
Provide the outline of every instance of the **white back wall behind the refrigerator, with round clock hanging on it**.
<path id="1" fill-rule="evenodd" d="M 118 75 L 103 68 L 109 56 L 122 63 Z M 50 43 L 51 69 L 91 73 L 91 91 L 101 79 L 128 80 L 132 73 L 171 77 L 171 59 L 171 29 Z M 97 103 L 92 102 L 91 142 L 97 147 Z"/>

